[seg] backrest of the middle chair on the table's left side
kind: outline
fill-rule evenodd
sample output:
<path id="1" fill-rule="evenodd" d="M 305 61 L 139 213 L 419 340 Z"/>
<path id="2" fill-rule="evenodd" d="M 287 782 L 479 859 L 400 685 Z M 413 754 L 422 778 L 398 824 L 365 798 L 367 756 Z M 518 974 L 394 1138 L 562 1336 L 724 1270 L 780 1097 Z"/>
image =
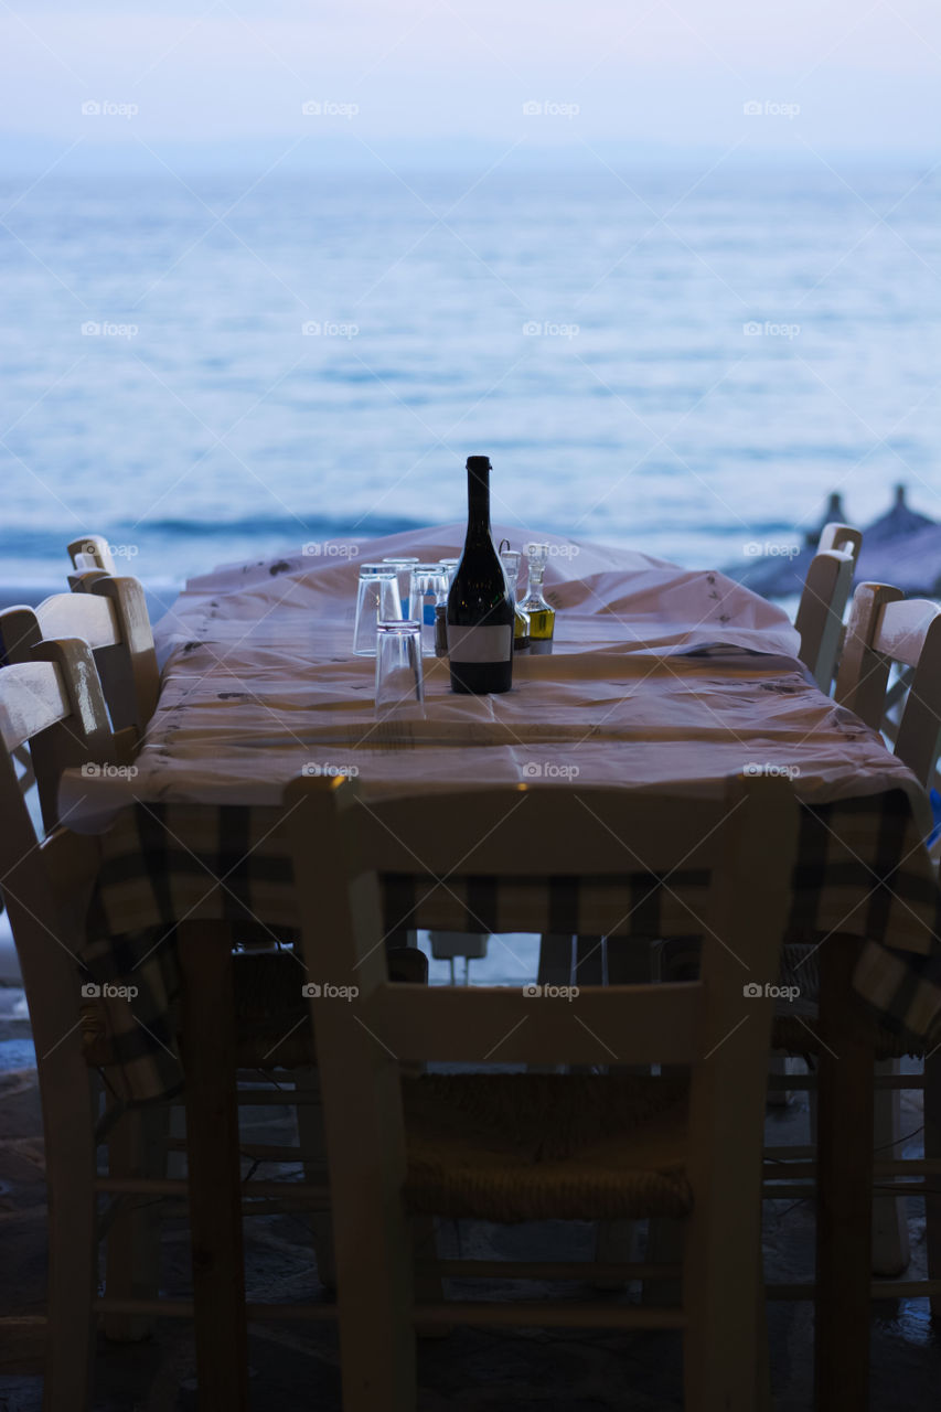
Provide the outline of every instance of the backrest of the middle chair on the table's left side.
<path id="1" fill-rule="evenodd" d="M 89 576 L 81 593 L 55 593 L 37 609 L 0 613 L 7 662 L 31 659 L 44 640 L 81 638 L 95 654 L 116 733 L 143 736 L 157 706 L 160 672 L 144 590 L 137 579 Z"/>

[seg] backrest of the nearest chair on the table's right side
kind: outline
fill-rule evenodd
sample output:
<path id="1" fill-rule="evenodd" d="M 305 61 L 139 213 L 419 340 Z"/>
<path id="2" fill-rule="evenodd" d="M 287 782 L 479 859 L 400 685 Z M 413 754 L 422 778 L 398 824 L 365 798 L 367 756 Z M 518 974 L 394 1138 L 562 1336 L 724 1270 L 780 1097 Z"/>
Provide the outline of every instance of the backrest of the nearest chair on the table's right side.
<path id="1" fill-rule="evenodd" d="M 907 669 L 907 696 L 890 692 L 893 665 Z M 836 700 L 873 730 L 927 788 L 941 747 L 941 607 L 907 599 L 887 583 L 860 583 L 853 594 Z M 892 713 L 892 714 L 889 714 Z"/>

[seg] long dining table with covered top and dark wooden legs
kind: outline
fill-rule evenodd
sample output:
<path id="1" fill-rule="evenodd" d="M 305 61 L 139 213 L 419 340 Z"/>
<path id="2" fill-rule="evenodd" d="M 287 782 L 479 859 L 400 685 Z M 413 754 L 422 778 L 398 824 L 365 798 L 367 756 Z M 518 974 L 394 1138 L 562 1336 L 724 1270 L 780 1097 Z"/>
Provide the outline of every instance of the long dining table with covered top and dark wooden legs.
<path id="1" fill-rule="evenodd" d="M 435 558 L 456 546 L 454 534 L 422 531 L 370 545 L 369 556 Z M 819 867 L 804 870 L 815 881 L 803 905 L 812 907 L 818 931 L 831 933 L 819 950 L 817 1405 L 865 1412 L 873 1053 L 862 1007 L 852 1000 L 853 970 L 868 935 L 873 866 L 892 870 L 904 857 L 913 895 L 924 894 L 931 877 L 927 856 L 924 863 L 917 856 L 918 788 L 875 733 L 839 714 L 803 678 L 788 655 L 795 635 L 776 609 L 721 575 L 568 541 L 557 548 L 550 570 L 550 596 L 560 606 L 557 654 L 521 666 L 506 698 L 451 698 L 444 682 L 432 681 L 430 720 L 408 741 L 377 729 L 370 666 L 349 655 L 355 559 L 311 566 L 298 556 L 208 576 L 162 624 L 168 665 L 140 774 L 130 782 L 64 779 L 71 820 L 96 827 L 124 809 L 103 840 L 103 938 L 177 925 L 196 1339 L 209 1406 L 247 1406 L 242 1217 L 230 1182 L 237 1101 L 227 921 L 237 916 L 233 882 L 250 916 L 251 874 L 264 871 L 274 908 L 266 921 L 291 925 L 292 888 L 274 829 L 284 784 L 311 760 L 319 770 L 355 762 L 381 820 L 383 799 L 408 785 L 413 792 L 417 777 L 431 808 L 439 789 L 526 778 L 531 762 L 545 778 L 548 767 L 576 761 L 582 782 L 623 779 L 626 789 L 664 778 L 714 788 L 730 770 L 788 768 L 800 772 L 808 836 L 845 827 L 852 839 L 846 847 L 859 875 L 829 887 L 828 846 L 819 844 Z M 716 642 L 732 655 L 716 652 Z M 560 786 L 571 778 L 558 774 Z M 897 856 L 882 858 L 876 840 L 886 833 L 886 809 L 894 810 L 897 826 L 889 832 L 897 836 Z M 411 861 L 390 854 L 380 825 L 369 846 L 390 888 L 403 874 L 420 873 L 414 849 Z M 251 858 L 244 875 L 239 853 Z M 134 860 L 137 885 L 129 881 Z M 893 873 L 899 905 L 882 908 L 879 940 L 903 949 L 893 956 L 937 947 L 937 898 L 923 897 L 916 907 L 904 895 L 906 875 Z M 277 878 L 280 892 L 271 884 Z M 438 892 L 408 925 L 480 929 L 478 911 L 470 918 L 465 909 L 462 919 L 458 907 L 455 916 L 454 898 Z M 492 921 L 493 931 L 517 929 L 499 908 Z M 671 935 L 665 904 L 661 922 L 647 935 Z M 596 931 L 591 916 L 572 929 Z M 89 967 L 93 973 L 93 956 Z M 136 979 L 146 981 L 146 964 Z M 212 1007 L 199 1004 L 206 994 L 216 997 Z M 138 1065 L 143 1097 L 160 1091 L 161 1058 L 150 1069 Z"/>

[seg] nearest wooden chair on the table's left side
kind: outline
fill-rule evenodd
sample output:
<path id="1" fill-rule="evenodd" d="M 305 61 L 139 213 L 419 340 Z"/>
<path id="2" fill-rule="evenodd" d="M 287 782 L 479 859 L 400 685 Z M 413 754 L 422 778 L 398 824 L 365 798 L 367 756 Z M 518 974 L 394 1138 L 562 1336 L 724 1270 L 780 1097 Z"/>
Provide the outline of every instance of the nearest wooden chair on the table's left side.
<path id="1" fill-rule="evenodd" d="M 44 1412 L 86 1408 L 96 1317 L 110 1339 L 141 1339 L 157 1315 L 189 1317 L 192 1302 L 158 1300 L 161 1202 L 195 1199 L 187 1178 L 167 1175 L 167 1139 L 172 1104 L 126 1108 L 105 1091 L 96 1069 L 113 1063 L 106 1025 L 97 1022 L 95 1000 L 82 997 L 76 956 L 83 940 L 88 898 L 99 867 L 99 842 L 51 823 L 37 833 L 20 788 L 16 753 L 32 753 L 40 782 L 55 799 L 65 768 L 114 762 L 113 737 L 95 662 L 86 642 L 42 641 L 31 661 L 0 668 L 0 875 L 37 1051 L 45 1134 L 49 1203 L 49 1292 L 47 1320 L 47 1382 Z M 54 812 L 51 808 L 49 812 Z M 391 952 L 390 967 L 411 981 L 424 979 L 424 956 Z M 233 959 L 236 1046 L 239 1070 L 292 1073 L 290 1096 L 298 1114 L 297 1149 L 242 1144 L 251 1161 L 294 1161 L 305 1180 L 290 1185 L 251 1182 L 246 1197 L 257 1204 L 300 1203 L 309 1216 L 318 1272 L 332 1272 L 329 1216 L 311 1216 L 311 1196 L 324 1190 L 322 1127 L 309 1015 L 301 995 L 302 974 L 290 950 L 250 950 Z M 205 1028 L 205 1019 L 198 1028 Z M 284 1099 L 284 1094 L 280 1094 Z M 263 1104 L 257 1087 L 244 1094 Z M 96 1149 L 107 1147 L 107 1171 L 96 1172 Z M 185 1144 L 177 1144 L 185 1147 Z M 237 1176 L 237 1173 L 236 1173 Z M 96 1199 L 113 1203 L 107 1230 L 106 1292 L 95 1298 L 97 1281 Z M 199 1193 L 212 1202 L 212 1193 Z M 235 1278 L 235 1275 L 233 1275 Z M 196 1292 L 196 1313 L 199 1312 Z M 329 1309 L 326 1310 L 329 1316 Z M 205 1322 L 212 1324 L 208 1309 Z M 257 1317 L 278 1317 L 277 1306 Z M 205 1367 L 199 1360 L 201 1387 Z"/>

